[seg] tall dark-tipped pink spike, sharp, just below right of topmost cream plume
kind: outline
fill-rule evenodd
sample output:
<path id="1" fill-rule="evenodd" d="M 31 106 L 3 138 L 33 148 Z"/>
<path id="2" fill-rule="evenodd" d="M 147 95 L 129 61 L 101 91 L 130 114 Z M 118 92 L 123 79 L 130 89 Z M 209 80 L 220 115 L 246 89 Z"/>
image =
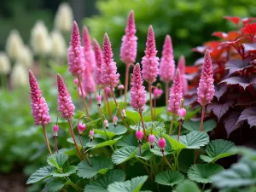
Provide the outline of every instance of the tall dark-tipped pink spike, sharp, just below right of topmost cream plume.
<path id="1" fill-rule="evenodd" d="M 79 26 L 73 21 L 71 41 L 68 49 L 68 70 L 74 76 L 81 76 L 84 73 L 84 50 L 80 44 Z"/>

